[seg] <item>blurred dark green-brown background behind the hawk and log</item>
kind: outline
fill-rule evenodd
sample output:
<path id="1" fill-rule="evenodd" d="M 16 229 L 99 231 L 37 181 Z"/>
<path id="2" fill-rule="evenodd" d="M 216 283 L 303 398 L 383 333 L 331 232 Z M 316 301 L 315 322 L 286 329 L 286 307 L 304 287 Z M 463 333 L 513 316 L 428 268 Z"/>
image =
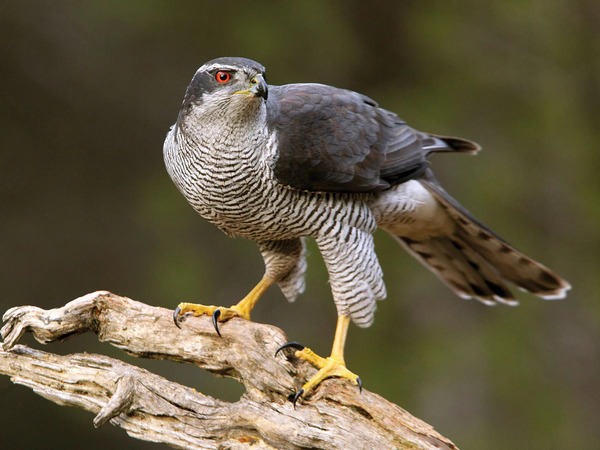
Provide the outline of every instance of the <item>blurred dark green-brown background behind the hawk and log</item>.
<path id="1" fill-rule="evenodd" d="M 352 327 L 365 387 L 464 449 L 600 446 L 600 3 L 497 1 L 3 1 L 0 309 L 108 289 L 153 305 L 229 305 L 262 275 L 251 242 L 204 222 L 171 183 L 162 143 L 196 69 L 246 56 L 271 84 L 358 90 L 417 129 L 481 143 L 439 155 L 447 190 L 573 285 L 521 306 L 455 297 L 376 235 L 388 299 Z M 307 292 L 276 289 L 253 319 L 326 354 L 336 322 L 310 245 Z M 31 339 L 24 342 L 42 347 Z M 235 400 L 199 369 L 97 352 Z M 0 378 L 2 446 L 157 448 Z"/>

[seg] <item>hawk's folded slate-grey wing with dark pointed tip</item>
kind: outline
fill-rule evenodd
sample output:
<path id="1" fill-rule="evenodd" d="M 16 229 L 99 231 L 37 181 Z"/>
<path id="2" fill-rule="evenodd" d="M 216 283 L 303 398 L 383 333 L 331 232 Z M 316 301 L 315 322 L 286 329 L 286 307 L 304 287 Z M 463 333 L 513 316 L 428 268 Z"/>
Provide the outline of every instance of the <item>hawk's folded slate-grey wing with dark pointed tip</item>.
<path id="1" fill-rule="evenodd" d="M 455 147 L 368 97 L 321 84 L 269 86 L 267 111 L 277 134 L 275 177 L 296 189 L 380 191 L 423 173 L 430 152 Z M 468 143 L 448 139 L 457 147 Z"/>

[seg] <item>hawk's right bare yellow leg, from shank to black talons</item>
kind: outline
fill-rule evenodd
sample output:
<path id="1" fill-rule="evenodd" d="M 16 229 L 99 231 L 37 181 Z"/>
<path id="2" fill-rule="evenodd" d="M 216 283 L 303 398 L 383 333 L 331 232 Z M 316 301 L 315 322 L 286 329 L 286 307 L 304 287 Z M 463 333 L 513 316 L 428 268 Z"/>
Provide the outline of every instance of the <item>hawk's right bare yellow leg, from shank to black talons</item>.
<path id="1" fill-rule="evenodd" d="M 296 400 L 298 400 L 298 398 L 300 398 L 303 394 L 311 389 L 316 388 L 323 380 L 330 377 L 347 378 L 362 390 L 362 382 L 360 378 L 356 374 L 350 372 L 346 368 L 346 363 L 344 362 L 344 346 L 346 344 L 346 336 L 348 334 L 348 325 L 350 325 L 350 319 L 348 317 L 338 317 L 338 323 L 335 329 L 335 338 L 333 340 L 333 347 L 331 349 L 331 356 L 328 358 L 322 358 L 311 349 L 304 347 L 297 342 L 289 342 L 282 345 L 277 350 L 277 352 L 279 352 L 286 347 L 296 348 L 297 350 L 295 356 L 297 358 L 304 359 L 319 369 L 315 376 L 308 380 L 296 393 L 296 395 L 293 396 L 292 401 L 294 402 L 294 405 L 296 404 Z"/>

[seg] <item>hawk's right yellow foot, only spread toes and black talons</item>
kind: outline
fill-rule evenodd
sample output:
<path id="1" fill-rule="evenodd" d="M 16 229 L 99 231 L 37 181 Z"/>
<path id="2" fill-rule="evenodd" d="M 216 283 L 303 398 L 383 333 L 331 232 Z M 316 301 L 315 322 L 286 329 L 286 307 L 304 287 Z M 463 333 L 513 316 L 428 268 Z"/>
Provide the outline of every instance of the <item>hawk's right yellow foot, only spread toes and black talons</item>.
<path id="1" fill-rule="evenodd" d="M 296 401 L 305 393 L 310 390 L 316 388 L 321 382 L 327 378 L 338 377 L 338 378 L 346 378 L 358 386 L 359 391 L 362 391 L 362 381 L 358 375 L 350 372 L 346 368 L 346 364 L 343 359 L 340 359 L 335 356 L 330 356 L 328 358 L 323 358 L 313 352 L 311 349 L 304 347 L 302 344 L 297 342 L 288 342 L 287 344 L 282 345 L 277 349 L 277 353 L 284 348 L 292 347 L 296 349 L 295 356 L 300 359 L 304 359 L 308 361 L 313 366 L 317 367 L 319 371 L 313 376 L 310 380 L 308 380 L 304 386 L 294 395 L 290 396 L 290 400 L 294 403 L 294 407 L 296 407 Z"/>

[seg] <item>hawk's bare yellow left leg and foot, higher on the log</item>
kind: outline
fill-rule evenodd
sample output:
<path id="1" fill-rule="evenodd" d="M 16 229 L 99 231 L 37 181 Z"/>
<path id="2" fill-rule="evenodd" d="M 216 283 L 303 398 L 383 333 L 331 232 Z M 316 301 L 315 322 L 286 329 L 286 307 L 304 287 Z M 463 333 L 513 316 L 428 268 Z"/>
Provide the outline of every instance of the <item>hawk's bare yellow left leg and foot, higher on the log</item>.
<path id="1" fill-rule="evenodd" d="M 194 314 L 194 316 L 206 314 L 207 316 L 212 316 L 213 324 L 220 336 L 221 333 L 219 332 L 217 321 L 225 322 L 233 317 L 241 317 L 243 319 L 250 320 L 250 312 L 258 300 L 267 291 L 267 289 L 273 285 L 273 283 L 274 281 L 265 275 L 248 293 L 248 295 L 246 295 L 239 303 L 231 306 L 230 308 L 213 305 L 198 305 L 196 303 L 180 303 L 177 308 L 175 308 L 175 312 L 173 313 L 175 325 L 179 327 L 177 319 L 179 316 L 185 313 L 191 312 Z"/>

